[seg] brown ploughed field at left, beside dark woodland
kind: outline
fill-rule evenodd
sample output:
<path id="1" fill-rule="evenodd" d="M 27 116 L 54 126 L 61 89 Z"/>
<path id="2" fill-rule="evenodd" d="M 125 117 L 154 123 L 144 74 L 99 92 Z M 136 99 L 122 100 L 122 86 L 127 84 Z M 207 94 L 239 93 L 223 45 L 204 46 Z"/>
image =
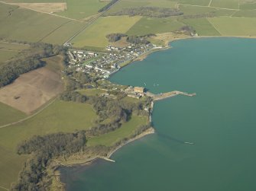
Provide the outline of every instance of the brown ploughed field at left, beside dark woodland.
<path id="1" fill-rule="evenodd" d="M 58 56 L 52 58 L 60 60 Z M 0 101 L 29 114 L 56 97 L 63 91 L 63 81 L 60 71 L 54 71 L 50 65 L 21 75 L 12 84 L 0 89 Z"/>

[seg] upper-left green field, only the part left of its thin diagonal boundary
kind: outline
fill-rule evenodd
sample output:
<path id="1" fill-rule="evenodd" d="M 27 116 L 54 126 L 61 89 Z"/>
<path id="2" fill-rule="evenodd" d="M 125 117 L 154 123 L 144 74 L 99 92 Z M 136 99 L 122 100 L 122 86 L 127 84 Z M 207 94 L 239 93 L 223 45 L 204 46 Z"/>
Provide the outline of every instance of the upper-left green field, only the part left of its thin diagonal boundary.
<path id="1" fill-rule="evenodd" d="M 70 21 L 2 3 L 0 12 L 0 24 L 5 26 L 0 28 L 0 37 L 11 40 L 37 42 Z"/>

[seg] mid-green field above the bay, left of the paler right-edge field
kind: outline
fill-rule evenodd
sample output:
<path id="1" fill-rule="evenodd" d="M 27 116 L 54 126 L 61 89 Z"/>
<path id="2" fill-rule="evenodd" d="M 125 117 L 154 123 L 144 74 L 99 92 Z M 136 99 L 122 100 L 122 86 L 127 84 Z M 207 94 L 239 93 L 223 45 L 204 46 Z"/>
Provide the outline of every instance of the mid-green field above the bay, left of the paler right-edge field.
<path id="1" fill-rule="evenodd" d="M 196 30 L 200 36 L 219 36 L 220 33 L 212 27 L 206 18 L 184 19 L 183 22 Z"/>

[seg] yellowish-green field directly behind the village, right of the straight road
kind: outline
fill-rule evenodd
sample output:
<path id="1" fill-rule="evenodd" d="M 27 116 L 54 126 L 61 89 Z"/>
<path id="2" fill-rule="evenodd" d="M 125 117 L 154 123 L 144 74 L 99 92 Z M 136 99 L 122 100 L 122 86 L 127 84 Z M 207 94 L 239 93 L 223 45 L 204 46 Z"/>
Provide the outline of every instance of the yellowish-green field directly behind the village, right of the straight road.
<path id="1" fill-rule="evenodd" d="M 94 24 L 90 25 L 82 33 L 79 33 L 71 43 L 75 47 L 108 46 L 108 39 L 105 37 L 109 33 L 126 33 L 136 22 L 141 19 L 139 16 L 128 17 L 103 17 L 99 18 Z"/>

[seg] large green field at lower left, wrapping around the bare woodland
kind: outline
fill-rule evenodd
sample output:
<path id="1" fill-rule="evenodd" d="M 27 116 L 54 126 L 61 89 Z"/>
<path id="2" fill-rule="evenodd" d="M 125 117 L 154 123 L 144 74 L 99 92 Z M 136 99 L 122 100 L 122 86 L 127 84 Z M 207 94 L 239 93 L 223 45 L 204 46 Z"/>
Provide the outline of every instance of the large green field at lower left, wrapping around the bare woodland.
<path id="1" fill-rule="evenodd" d="M 0 186 L 8 188 L 17 179 L 18 172 L 28 157 L 15 153 L 19 142 L 33 135 L 89 129 L 96 117 L 88 104 L 57 100 L 37 116 L 15 126 L 0 129 Z"/>

